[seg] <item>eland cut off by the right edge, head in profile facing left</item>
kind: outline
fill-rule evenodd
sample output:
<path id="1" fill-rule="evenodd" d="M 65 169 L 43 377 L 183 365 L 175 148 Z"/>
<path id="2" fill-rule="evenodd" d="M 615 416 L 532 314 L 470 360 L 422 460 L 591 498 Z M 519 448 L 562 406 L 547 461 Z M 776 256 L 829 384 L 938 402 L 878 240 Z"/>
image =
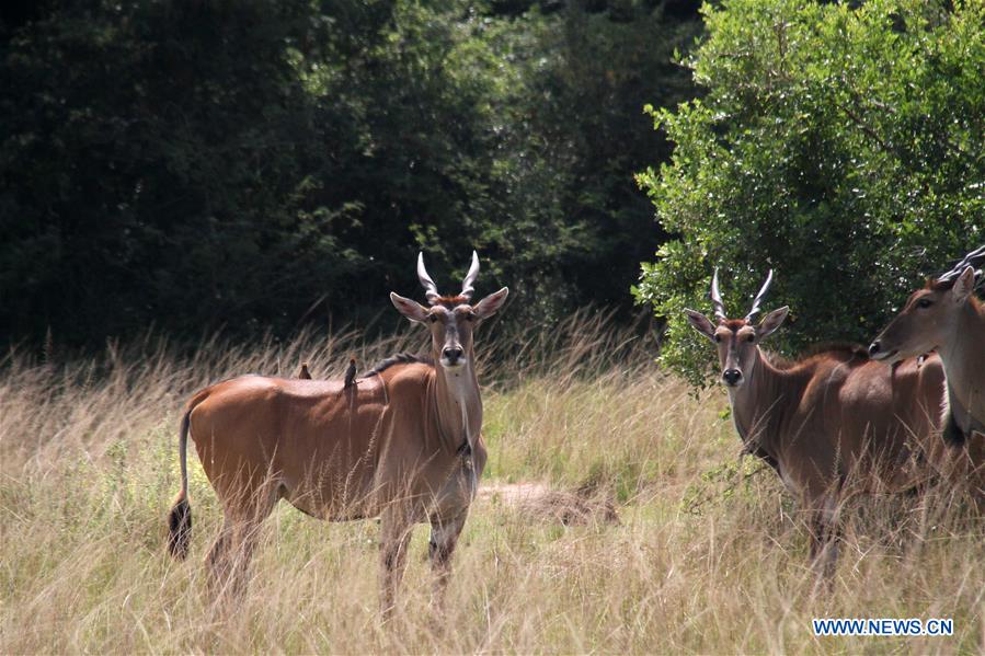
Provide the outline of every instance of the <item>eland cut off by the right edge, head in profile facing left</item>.
<path id="1" fill-rule="evenodd" d="M 914 291 L 903 310 L 869 346 L 882 362 L 936 350 L 947 375 L 943 441 L 954 460 L 952 477 L 973 487 L 985 502 L 985 303 L 975 288 L 985 276 L 985 245 L 951 271 Z"/>

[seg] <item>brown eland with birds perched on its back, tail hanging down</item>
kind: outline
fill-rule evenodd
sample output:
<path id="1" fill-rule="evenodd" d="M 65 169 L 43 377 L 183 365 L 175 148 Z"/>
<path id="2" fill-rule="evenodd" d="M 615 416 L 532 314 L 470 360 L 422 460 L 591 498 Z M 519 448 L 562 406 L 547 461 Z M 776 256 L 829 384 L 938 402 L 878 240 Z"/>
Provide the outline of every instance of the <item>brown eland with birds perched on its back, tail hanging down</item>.
<path id="1" fill-rule="evenodd" d="M 381 605 L 392 609 L 414 523 L 431 522 L 428 555 L 439 602 L 451 553 L 485 464 L 473 331 L 506 300 L 472 303 L 479 258 L 445 297 L 417 258 L 429 307 L 390 295 L 431 331 L 432 359 L 399 355 L 358 385 L 243 376 L 202 390 L 181 422 L 181 492 L 170 515 L 171 553 L 184 557 L 192 526 L 191 434 L 225 523 L 206 559 L 214 590 L 242 588 L 257 529 L 279 499 L 320 519 L 380 517 Z"/>

